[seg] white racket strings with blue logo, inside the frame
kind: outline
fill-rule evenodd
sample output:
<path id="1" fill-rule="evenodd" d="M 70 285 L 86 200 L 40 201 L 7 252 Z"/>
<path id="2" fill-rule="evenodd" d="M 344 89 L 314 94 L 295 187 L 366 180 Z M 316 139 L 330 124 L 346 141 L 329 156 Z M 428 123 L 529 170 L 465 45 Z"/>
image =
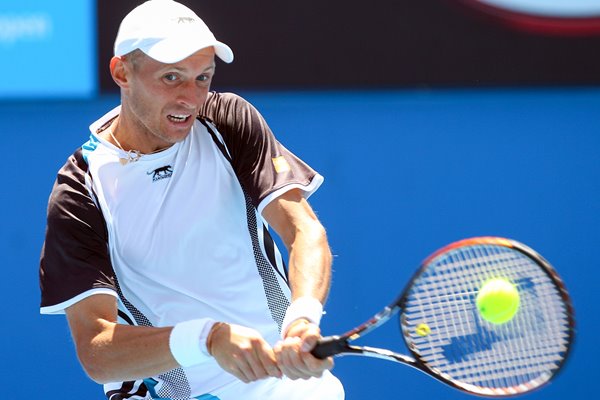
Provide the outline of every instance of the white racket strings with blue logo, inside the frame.
<path id="1" fill-rule="evenodd" d="M 520 307 L 502 325 L 478 313 L 475 297 L 490 278 L 517 287 Z M 423 270 L 406 298 L 407 344 L 429 367 L 451 380 L 515 392 L 547 381 L 565 357 L 570 320 L 549 275 L 523 253 L 476 245 L 441 254 Z M 429 332 L 419 334 L 419 325 Z M 422 336 L 421 336 L 422 335 Z"/>

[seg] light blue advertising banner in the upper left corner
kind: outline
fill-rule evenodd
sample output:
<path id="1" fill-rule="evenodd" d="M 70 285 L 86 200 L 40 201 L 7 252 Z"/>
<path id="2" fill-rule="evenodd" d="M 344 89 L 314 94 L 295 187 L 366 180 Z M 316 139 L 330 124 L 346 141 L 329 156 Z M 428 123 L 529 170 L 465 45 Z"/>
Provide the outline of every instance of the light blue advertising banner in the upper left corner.
<path id="1" fill-rule="evenodd" d="M 95 0 L 0 2 L 0 98 L 96 93 Z"/>

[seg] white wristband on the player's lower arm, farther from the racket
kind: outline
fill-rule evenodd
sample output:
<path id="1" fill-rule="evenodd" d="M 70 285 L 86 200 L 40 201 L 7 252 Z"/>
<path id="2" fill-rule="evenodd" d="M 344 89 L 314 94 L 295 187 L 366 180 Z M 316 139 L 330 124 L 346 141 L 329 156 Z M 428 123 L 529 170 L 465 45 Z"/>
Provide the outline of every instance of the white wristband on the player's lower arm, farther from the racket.
<path id="1" fill-rule="evenodd" d="M 210 318 L 180 322 L 171 331 L 169 348 L 182 367 L 191 367 L 211 358 L 206 339 L 215 321 Z"/>

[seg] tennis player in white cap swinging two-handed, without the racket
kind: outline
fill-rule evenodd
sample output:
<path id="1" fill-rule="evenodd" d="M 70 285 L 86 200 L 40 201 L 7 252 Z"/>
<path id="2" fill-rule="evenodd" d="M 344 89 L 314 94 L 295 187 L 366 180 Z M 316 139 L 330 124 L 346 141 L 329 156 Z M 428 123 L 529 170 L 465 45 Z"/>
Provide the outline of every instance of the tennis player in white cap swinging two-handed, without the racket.
<path id="1" fill-rule="evenodd" d="M 323 178 L 248 102 L 209 92 L 215 56 L 233 60 L 177 2 L 123 19 L 121 104 L 50 196 L 41 312 L 66 314 L 109 399 L 343 399 L 310 354 L 331 253 L 306 199 Z"/>

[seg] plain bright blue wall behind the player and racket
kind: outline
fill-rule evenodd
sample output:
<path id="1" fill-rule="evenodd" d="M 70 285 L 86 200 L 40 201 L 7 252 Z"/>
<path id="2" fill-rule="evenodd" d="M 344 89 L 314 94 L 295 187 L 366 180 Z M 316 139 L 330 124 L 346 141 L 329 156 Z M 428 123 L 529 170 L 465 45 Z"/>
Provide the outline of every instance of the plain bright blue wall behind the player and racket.
<path id="1" fill-rule="evenodd" d="M 555 265 L 577 311 L 564 373 L 528 398 L 591 398 L 590 364 L 600 357 L 599 89 L 242 94 L 326 177 L 311 198 L 336 256 L 325 334 L 390 302 L 435 249 L 507 236 Z M 0 103 L 4 398 L 102 398 L 78 366 L 65 319 L 38 314 L 37 268 L 56 170 L 117 101 Z M 403 348 L 394 323 L 364 342 Z M 385 361 L 339 358 L 335 371 L 349 400 L 467 398 Z"/>

